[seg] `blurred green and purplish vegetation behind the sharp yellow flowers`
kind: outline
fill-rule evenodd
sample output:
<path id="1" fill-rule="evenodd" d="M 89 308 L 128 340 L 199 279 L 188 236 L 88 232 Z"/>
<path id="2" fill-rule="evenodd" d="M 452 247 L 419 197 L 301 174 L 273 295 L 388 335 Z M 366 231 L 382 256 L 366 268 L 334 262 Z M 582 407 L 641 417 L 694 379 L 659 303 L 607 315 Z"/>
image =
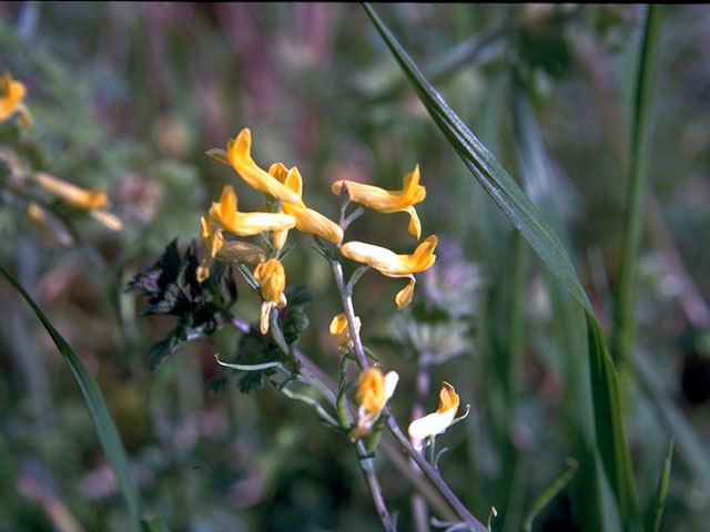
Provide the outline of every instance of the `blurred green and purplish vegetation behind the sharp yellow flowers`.
<path id="1" fill-rule="evenodd" d="M 626 283 L 637 153 L 628 132 L 647 8 L 377 11 L 560 236 L 611 338 Z M 620 395 L 646 522 L 674 434 L 662 529 L 693 531 L 710 518 L 710 10 L 666 7 L 661 28 L 630 263 L 635 341 L 619 362 Z M 362 276 L 353 304 L 362 340 L 399 376 L 387 402 L 394 418 L 404 424 L 434 411 L 442 381 L 460 398 L 458 416 L 470 405 L 437 438 L 449 450 L 436 458 L 471 513 L 485 522 L 495 507 L 491 529 L 500 531 L 619 526 L 613 485 L 589 483 L 606 477 L 585 459 L 600 452 L 588 438 L 599 405 L 579 307 L 459 164 L 359 6 L 6 2 L 0 63 L 14 80 L 6 74 L 0 88 L 0 98 L 14 94 L 8 117 L 0 103 L 0 260 L 98 381 L 146 516 L 195 531 L 378 526 L 347 438 L 320 426 L 307 401 L 258 389 L 275 367 L 233 380 L 214 358 L 230 364 L 239 350 L 250 354 L 242 365 L 274 360 L 252 329 L 260 293 L 240 269 L 215 254 L 207 280 L 187 274 L 206 254 L 191 244 L 200 216 L 224 185 L 237 187 L 240 209 L 264 204 L 205 155 L 251 126 L 254 160 L 297 166 L 302 203 L 336 221 L 334 183 L 398 191 L 418 164 L 427 198 L 416 213 L 414 202 L 407 212 L 367 211 L 345 242 L 410 243 L 416 216 L 425 236 L 438 236 L 437 262 L 417 274 L 400 313 L 393 301 L 403 280 L 381 275 Z M 24 86 L 19 112 L 13 82 Z M 329 263 L 310 237 L 288 239 L 280 327 L 286 336 L 286 320 L 298 351 L 337 376 L 327 325 L 343 308 Z M 143 286 L 146 299 L 122 293 L 140 272 L 166 264 L 165 286 L 189 294 L 194 311 L 151 293 L 158 285 Z M 357 272 L 345 267 L 346 278 Z M 67 368 L 7 283 L 0 300 L 0 530 L 126 530 Z M 136 320 L 145 303 L 155 311 Z M 398 530 L 453 521 L 420 475 L 407 477 L 415 468 L 399 447 L 383 433 L 374 459 Z M 550 491 L 556 479 L 564 482 Z"/>

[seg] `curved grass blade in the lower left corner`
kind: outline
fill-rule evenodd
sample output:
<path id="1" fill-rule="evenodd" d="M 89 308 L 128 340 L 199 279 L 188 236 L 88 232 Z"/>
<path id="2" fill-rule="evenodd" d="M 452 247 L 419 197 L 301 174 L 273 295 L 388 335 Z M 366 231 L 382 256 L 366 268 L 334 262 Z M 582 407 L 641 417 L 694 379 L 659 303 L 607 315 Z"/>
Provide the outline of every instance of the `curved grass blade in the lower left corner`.
<path id="1" fill-rule="evenodd" d="M 32 307 L 32 310 L 34 310 L 34 314 L 52 337 L 54 345 L 59 349 L 64 362 L 67 362 L 69 370 L 74 377 L 77 386 L 79 387 L 79 390 L 84 398 L 84 402 L 87 403 L 87 408 L 89 409 L 91 420 L 97 429 L 101 447 L 103 447 L 106 458 L 113 468 L 123 500 L 125 501 L 125 507 L 129 512 L 130 530 L 139 532 L 141 530 L 141 504 L 139 494 L 135 489 L 135 484 L 133 483 L 133 478 L 131 477 L 129 461 L 125 456 L 125 450 L 123 449 L 123 442 L 121 441 L 119 431 L 111 419 L 109 409 L 103 401 L 103 397 L 99 390 L 97 381 L 82 364 L 81 359 L 74 354 L 69 344 L 67 344 L 64 338 L 62 338 L 62 336 L 57 331 L 50 320 L 47 319 L 44 313 L 42 313 L 40 307 L 34 303 L 24 288 L 22 288 L 22 286 L 8 273 L 7 269 L 4 269 L 4 267 L 0 266 L 0 273 L 2 273 L 10 284 L 14 286 L 28 305 Z"/>

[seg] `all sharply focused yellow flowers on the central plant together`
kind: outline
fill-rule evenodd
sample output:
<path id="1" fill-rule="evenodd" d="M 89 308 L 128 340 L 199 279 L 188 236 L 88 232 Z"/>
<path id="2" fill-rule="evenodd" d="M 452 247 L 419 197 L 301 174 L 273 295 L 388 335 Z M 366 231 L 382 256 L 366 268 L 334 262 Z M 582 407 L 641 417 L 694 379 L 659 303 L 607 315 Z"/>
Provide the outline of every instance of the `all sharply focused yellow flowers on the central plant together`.
<path id="1" fill-rule="evenodd" d="M 253 286 L 258 288 L 262 298 L 260 330 L 263 335 L 267 334 L 272 311 L 287 305 L 284 295 L 286 274 L 280 257 L 288 231 L 296 228 L 331 242 L 344 257 L 371 266 L 385 276 L 408 278 L 409 283 L 396 295 L 395 303 L 398 309 L 412 303 L 416 283 L 414 274 L 428 269 L 436 260 L 434 250 L 437 237 L 432 235 L 425 238 L 410 255 L 398 255 L 385 247 L 364 242 L 343 243 L 343 232 L 347 226 L 344 209 L 347 203 L 354 202 L 379 213 L 407 213 L 408 232 L 419 239 L 422 223 L 414 205 L 424 201 L 426 188 L 419 185 L 418 165 L 405 175 L 400 191 L 386 191 L 352 181 L 334 183 L 332 192 L 342 200 L 341 224 L 336 224 L 306 206 L 303 200 L 303 177 L 297 167 L 290 168 L 276 162 L 268 171 L 264 171 L 252 158 L 251 149 L 251 131 L 243 129 L 227 143 L 226 151 L 207 152 L 217 161 L 231 165 L 247 185 L 266 194 L 267 212 L 240 211 L 234 188 L 231 185 L 224 186 L 220 201 L 212 203 L 200 221 L 201 237 L 207 250 L 207 256 L 197 267 L 200 282 L 210 276 L 210 265 L 214 259 L 254 265 Z M 264 233 L 267 234 L 268 243 L 265 246 L 227 239 L 225 236 L 230 234 L 246 237 Z M 359 318 L 352 315 L 349 319 L 346 314 L 333 318 L 329 331 L 342 356 L 347 357 L 354 352 L 353 335 L 359 335 Z M 363 369 L 356 386 L 358 410 L 355 424 L 348 432 L 351 441 L 356 441 L 373 430 L 398 380 L 396 371 L 383 375 L 376 367 Z M 439 393 L 439 409 L 413 421 L 409 426 L 410 437 L 420 440 L 443 432 L 454 421 L 457 409 L 458 395 L 448 382 L 444 382 Z"/>

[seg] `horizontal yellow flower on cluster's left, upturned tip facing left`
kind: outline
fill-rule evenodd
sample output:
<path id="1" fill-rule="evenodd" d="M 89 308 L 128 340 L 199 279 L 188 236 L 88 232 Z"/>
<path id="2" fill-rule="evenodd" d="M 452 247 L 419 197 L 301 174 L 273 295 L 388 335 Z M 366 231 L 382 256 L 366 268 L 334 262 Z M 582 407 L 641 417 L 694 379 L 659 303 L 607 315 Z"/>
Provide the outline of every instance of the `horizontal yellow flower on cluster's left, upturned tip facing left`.
<path id="1" fill-rule="evenodd" d="M 236 209 L 236 194 L 232 185 L 222 190 L 219 202 L 210 207 L 210 217 L 223 229 L 240 236 L 253 236 L 264 231 L 290 229 L 296 225 L 287 214 L 278 213 L 240 213 Z"/>

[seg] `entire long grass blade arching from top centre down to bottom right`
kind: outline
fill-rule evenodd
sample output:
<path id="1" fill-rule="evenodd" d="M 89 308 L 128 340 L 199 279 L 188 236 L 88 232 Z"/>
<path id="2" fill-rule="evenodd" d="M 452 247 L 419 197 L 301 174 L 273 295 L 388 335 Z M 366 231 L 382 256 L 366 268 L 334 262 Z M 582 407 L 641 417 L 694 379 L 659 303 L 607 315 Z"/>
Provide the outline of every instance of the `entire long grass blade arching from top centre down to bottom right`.
<path id="1" fill-rule="evenodd" d="M 585 308 L 588 328 L 589 366 L 597 446 L 613 490 L 626 530 L 641 528 L 638 495 L 631 459 L 626 447 L 619 383 L 609 357 L 601 327 L 597 323 L 569 256 L 550 226 L 496 161 L 495 156 L 476 139 L 446 101 L 426 80 L 416 63 L 382 22 L 373 8 L 364 4 L 381 35 L 409 79 L 423 104 L 478 182 L 491 195 L 504 214 L 528 241 L 548 268 Z"/>

